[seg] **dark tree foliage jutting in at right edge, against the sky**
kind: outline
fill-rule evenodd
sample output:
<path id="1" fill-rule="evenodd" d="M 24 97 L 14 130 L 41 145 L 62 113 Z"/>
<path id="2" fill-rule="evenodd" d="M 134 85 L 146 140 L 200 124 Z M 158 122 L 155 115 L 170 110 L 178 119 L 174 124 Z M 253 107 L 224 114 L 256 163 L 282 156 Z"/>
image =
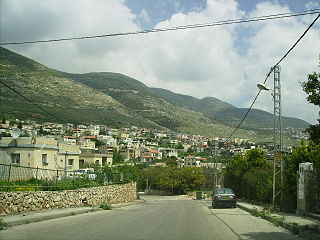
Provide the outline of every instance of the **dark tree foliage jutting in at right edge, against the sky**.
<path id="1" fill-rule="evenodd" d="M 320 106 L 320 73 L 314 72 L 308 75 L 308 81 L 301 83 L 303 91 L 308 94 L 307 100 L 316 106 Z M 319 112 L 320 115 L 320 112 Z M 310 134 L 310 140 L 320 144 L 320 119 L 318 124 L 310 125 L 307 132 Z"/>

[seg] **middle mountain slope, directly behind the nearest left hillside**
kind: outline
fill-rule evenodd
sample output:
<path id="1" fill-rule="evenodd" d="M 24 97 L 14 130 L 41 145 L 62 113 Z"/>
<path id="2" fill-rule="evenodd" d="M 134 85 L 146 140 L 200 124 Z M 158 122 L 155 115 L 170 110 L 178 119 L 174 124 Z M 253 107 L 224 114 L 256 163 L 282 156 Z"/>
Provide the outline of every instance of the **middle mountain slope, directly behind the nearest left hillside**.
<path id="1" fill-rule="evenodd" d="M 97 91 L 111 96 L 136 114 L 171 130 L 193 134 L 225 136 L 232 128 L 207 118 L 203 113 L 169 101 L 155 93 L 154 89 L 118 73 L 61 73 Z M 167 91 L 167 90 L 164 90 Z M 169 91 L 168 91 L 169 92 Z M 174 96 L 175 94 L 172 93 Z M 181 95 L 182 98 L 196 98 Z M 191 100 L 190 100 L 191 102 Z M 183 103 L 183 100 L 181 100 Z M 250 137 L 251 131 L 240 131 L 239 134 Z"/>

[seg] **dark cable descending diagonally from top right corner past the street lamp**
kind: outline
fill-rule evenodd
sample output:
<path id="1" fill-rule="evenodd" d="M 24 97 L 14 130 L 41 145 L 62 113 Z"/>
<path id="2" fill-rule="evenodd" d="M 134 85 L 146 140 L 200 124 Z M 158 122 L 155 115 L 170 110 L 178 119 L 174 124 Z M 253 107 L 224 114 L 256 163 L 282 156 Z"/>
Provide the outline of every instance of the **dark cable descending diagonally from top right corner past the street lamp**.
<path id="1" fill-rule="evenodd" d="M 265 80 L 263 81 L 263 83 L 265 84 L 268 80 L 268 78 L 270 77 L 271 73 L 273 72 L 273 70 L 275 69 L 275 67 L 277 67 L 287 56 L 288 54 L 296 47 L 296 45 L 300 42 L 300 40 L 307 34 L 307 32 L 310 30 L 310 28 L 315 24 L 315 22 L 319 19 L 320 14 L 313 20 L 313 22 L 309 25 L 309 27 L 303 32 L 303 34 L 299 37 L 299 39 L 292 45 L 292 47 L 286 52 L 286 54 L 270 69 L 270 71 L 268 72 Z M 238 124 L 238 126 L 234 129 L 234 131 L 231 133 L 231 135 L 227 138 L 226 141 L 229 141 L 230 138 L 235 134 L 235 132 L 239 129 L 239 127 L 242 125 L 243 121 L 246 119 L 246 117 L 248 116 L 249 112 L 251 111 L 253 105 L 255 104 L 255 102 L 257 101 L 258 96 L 260 95 L 261 90 L 259 89 L 259 92 L 257 93 L 256 97 L 254 98 L 253 102 L 251 103 L 250 107 L 248 108 L 246 114 L 244 115 L 244 117 L 242 118 L 242 120 L 240 121 L 240 123 Z"/>

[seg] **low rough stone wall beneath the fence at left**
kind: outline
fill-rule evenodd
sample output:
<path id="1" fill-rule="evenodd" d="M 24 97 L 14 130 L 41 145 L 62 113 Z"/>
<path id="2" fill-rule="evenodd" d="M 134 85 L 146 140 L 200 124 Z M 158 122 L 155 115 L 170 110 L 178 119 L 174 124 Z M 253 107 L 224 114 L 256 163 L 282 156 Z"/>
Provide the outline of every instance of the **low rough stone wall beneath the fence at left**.
<path id="1" fill-rule="evenodd" d="M 42 209 L 99 206 L 136 200 L 136 183 L 65 191 L 0 192 L 0 216 Z"/>

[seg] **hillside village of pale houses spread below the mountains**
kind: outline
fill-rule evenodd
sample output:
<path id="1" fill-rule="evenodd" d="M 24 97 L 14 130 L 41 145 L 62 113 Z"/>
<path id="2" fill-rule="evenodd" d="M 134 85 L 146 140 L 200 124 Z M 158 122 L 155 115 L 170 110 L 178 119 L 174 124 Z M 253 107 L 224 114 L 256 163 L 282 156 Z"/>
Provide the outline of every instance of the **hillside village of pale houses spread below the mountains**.
<path id="1" fill-rule="evenodd" d="M 21 129 L 17 139 L 10 135 L 13 128 Z M 168 158 L 176 159 L 180 168 L 221 168 L 226 159 L 255 147 L 265 150 L 272 159 L 272 143 L 268 142 L 256 144 L 239 138 L 226 142 L 224 138 L 135 126 L 112 129 L 105 125 L 3 120 L 0 134 L 2 164 L 44 169 L 74 171 L 137 162 L 165 166 Z M 286 146 L 285 150 L 291 152 L 292 147 Z"/>

